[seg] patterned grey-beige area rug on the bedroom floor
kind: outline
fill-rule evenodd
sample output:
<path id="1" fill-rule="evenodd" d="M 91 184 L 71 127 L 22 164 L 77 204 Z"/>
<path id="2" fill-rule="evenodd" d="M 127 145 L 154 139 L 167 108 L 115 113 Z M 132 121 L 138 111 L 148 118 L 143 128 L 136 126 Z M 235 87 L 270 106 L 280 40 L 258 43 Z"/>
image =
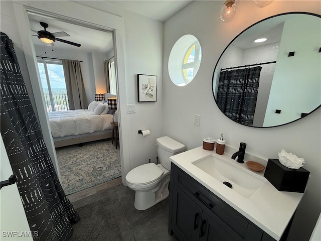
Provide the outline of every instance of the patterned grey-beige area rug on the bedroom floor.
<path id="1" fill-rule="evenodd" d="M 57 148 L 56 153 L 67 195 L 121 176 L 119 148 L 111 139 Z"/>

